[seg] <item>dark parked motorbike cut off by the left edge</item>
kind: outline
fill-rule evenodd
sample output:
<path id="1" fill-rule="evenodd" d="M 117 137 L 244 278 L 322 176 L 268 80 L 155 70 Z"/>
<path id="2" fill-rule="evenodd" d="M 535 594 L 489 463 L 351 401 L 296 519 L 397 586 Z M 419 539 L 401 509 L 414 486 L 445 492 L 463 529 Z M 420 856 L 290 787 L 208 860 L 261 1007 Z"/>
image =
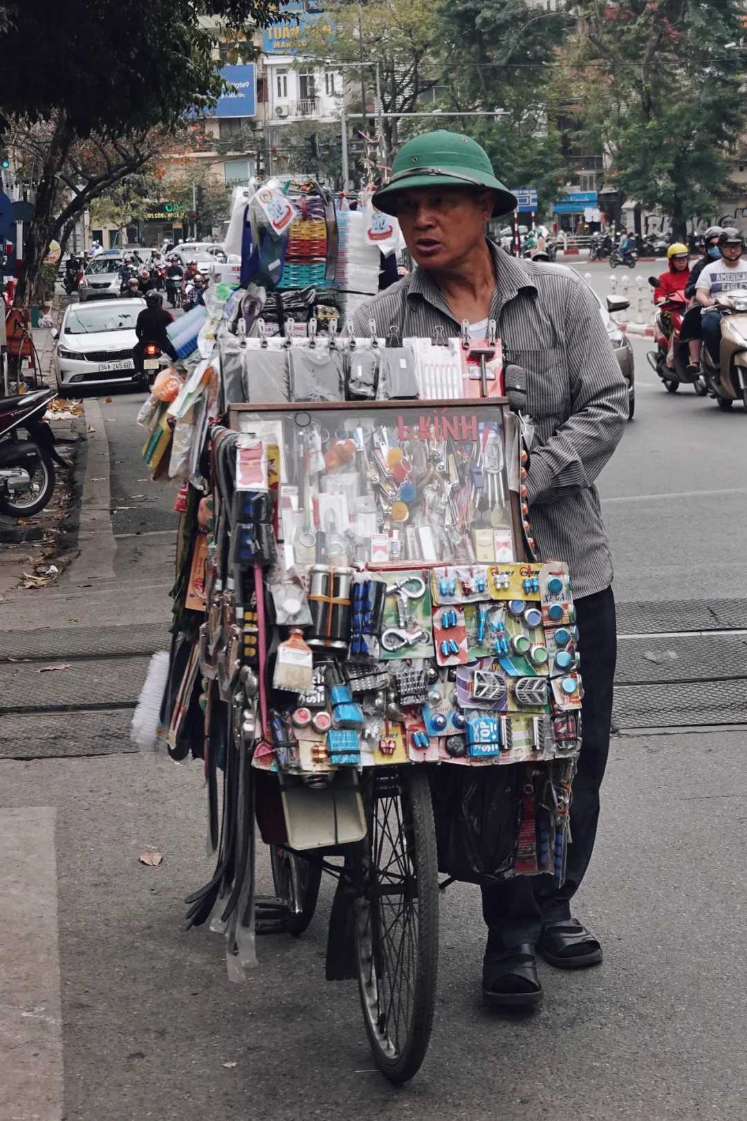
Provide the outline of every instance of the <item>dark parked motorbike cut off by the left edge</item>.
<path id="1" fill-rule="evenodd" d="M 44 510 L 55 489 L 55 463 L 67 467 L 44 419 L 50 389 L 0 398 L 0 512 L 30 518 Z M 24 430 L 28 438 L 19 436 Z"/>

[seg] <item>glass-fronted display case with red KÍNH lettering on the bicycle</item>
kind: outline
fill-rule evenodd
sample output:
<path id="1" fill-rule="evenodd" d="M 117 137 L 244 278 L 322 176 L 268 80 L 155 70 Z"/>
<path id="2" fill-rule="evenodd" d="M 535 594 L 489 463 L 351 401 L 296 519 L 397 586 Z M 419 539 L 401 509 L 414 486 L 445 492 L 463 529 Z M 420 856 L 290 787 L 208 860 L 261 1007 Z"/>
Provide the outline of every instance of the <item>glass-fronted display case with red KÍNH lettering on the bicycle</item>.
<path id="1" fill-rule="evenodd" d="M 236 487 L 276 492 L 287 567 L 516 560 L 506 414 L 501 398 L 235 405 Z"/>

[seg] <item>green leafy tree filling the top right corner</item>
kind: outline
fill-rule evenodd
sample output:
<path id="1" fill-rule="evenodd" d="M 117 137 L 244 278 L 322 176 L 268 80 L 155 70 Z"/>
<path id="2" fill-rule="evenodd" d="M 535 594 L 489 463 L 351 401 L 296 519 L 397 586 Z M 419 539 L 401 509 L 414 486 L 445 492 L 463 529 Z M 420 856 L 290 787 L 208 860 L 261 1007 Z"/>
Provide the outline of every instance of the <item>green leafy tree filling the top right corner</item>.
<path id="1" fill-rule="evenodd" d="M 580 0 L 575 95 L 626 197 L 661 207 L 675 239 L 730 188 L 744 126 L 736 0 Z"/>

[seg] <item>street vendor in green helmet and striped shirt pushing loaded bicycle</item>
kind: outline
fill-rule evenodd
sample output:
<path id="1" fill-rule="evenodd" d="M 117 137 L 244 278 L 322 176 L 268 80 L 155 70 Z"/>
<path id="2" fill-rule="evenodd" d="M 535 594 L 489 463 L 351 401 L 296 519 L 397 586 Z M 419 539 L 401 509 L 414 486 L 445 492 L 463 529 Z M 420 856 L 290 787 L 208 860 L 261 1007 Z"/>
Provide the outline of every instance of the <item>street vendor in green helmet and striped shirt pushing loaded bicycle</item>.
<path id="1" fill-rule="evenodd" d="M 517 876 L 483 888 L 488 928 L 483 992 L 498 1004 L 536 1003 L 535 954 L 561 969 L 601 961 L 598 939 L 571 917 L 591 859 L 599 787 L 609 751 L 616 659 L 613 566 L 594 480 L 627 419 L 627 388 L 597 304 L 562 266 L 520 260 L 487 239 L 486 223 L 516 200 L 485 150 L 461 133 L 437 131 L 402 146 L 375 206 L 399 219 L 417 268 L 365 304 L 354 333 L 475 337 L 498 325 L 506 362 L 526 373 L 535 444 L 525 480 L 540 554 L 570 565 L 583 675 L 583 740 L 571 808 L 572 843 L 562 888 L 550 876 Z"/>

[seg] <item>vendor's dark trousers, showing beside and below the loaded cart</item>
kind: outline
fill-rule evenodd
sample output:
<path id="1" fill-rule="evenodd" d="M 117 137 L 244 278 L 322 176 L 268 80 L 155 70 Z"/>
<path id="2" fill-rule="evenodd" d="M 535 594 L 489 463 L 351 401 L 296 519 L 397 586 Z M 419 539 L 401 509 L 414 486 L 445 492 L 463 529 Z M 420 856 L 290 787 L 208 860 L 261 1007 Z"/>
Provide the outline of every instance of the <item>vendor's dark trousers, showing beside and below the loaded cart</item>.
<path id="1" fill-rule="evenodd" d="M 551 876 L 516 876 L 483 888 L 483 917 L 488 949 L 511 949 L 535 943 L 544 923 L 570 918 L 576 895 L 591 860 L 599 818 L 599 787 L 609 753 L 613 679 L 617 657 L 615 597 L 611 587 L 576 601 L 578 649 L 583 680 L 582 742 L 573 780 L 566 882 Z"/>

